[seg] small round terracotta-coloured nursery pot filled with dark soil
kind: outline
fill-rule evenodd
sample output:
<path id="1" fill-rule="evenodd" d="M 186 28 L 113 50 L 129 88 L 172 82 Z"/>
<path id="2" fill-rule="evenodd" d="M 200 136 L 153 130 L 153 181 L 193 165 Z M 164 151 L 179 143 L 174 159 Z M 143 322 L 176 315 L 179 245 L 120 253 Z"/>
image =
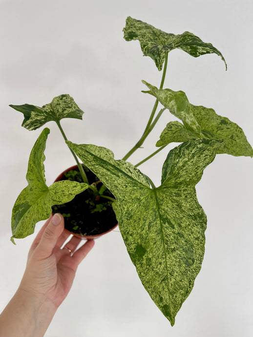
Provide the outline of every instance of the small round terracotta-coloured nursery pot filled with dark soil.
<path id="1" fill-rule="evenodd" d="M 98 177 L 86 168 L 84 170 L 90 184 L 98 182 Z M 61 173 L 55 180 L 74 180 L 82 183 L 82 177 L 78 166 L 72 166 Z M 97 189 L 102 183 L 97 183 Z M 106 190 L 103 194 L 114 198 L 113 194 Z M 101 196 L 94 197 L 92 190 L 87 189 L 77 194 L 73 200 L 63 205 L 52 206 L 52 212 L 61 213 L 64 217 L 64 227 L 67 232 L 82 239 L 96 239 L 118 226 L 111 201 Z"/>

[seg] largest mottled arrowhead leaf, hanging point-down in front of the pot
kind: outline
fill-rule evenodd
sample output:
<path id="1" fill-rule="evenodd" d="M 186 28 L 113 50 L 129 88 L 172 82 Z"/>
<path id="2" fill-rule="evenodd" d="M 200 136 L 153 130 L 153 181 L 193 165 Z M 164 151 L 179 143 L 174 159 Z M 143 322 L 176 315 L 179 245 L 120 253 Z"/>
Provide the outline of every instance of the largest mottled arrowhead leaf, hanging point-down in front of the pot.
<path id="1" fill-rule="evenodd" d="M 67 142 L 116 197 L 119 228 L 130 258 L 171 325 L 201 268 L 207 218 L 194 186 L 213 161 L 219 143 L 197 139 L 172 149 L 161 186 L 151 189 L 141 171 L 114 160 L 105 147 Z"/>

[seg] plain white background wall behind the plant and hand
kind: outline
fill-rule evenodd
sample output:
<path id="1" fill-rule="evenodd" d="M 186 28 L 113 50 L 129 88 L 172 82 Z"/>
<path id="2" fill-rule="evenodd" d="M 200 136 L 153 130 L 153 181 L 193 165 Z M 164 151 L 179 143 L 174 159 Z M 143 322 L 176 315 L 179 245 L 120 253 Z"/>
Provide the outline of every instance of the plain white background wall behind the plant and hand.
<path id="1" fill-rule="evenodd" d="M 193 58 L 169 53 L 164 87 L 186 92 L 190 103 L 215 109 L 241 126 L 253 145 L 252 0 L 1 0 L 0 1 L 0 311 L 15 293 L 35 237 L 11 236 L 12 206 L 26 186 L 29 153 L 42 129 L 21 127 L 9 104 L 44 105 L 68 93 L 85 112 L 63 120 L 67 137 L 113 150 L 122 158 L 140 138 L 154 99 L 141 80 L 159 85 L 162 73 L 143 57 L 139 42 L 126 42 L 127 16 L 168 33 L 190 31 L 220 50 Z M 155 150 L 165 112 L 130 161 Z M 74 161 L 57 127 L 45 151 L 50 185 Z M 140 169 L 160 183 L 169 148 Z M 206 253 L 190 296 L 171 327 L 143 288 L 119 230 L 96 241 L 56 313 L 47 337 L 250 337 L 253 336 L 253 161 L 217 155 L 197 185 L 208 217 Z M 36 226 L 38 232 L 42 223 Z M 15 319 L 15 317 L 14 317 Z"/>

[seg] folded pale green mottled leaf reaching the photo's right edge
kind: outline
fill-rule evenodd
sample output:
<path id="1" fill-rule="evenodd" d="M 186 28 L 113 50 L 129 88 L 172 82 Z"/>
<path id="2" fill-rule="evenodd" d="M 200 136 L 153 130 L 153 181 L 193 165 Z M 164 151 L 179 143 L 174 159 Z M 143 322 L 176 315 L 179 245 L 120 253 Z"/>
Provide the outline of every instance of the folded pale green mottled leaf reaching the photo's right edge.
<path id="1" fill-rule="evenodd" d="M 219 116 L 211 108 L 196 106 L 189 103 L 183 91 L 158 89 L 148 84 L 149 93 L 162 105 L 179 118 L 179 122 L 170 122 L 160 135 L 156 146 L 164 146 L 171 142 L 186 142 L 190 139 L 205 138 L 224 140 L 217 148 L 217 153 L 228 153 L 233 156 L 253 156 L 253 148 L 240 126 L 231 122 L 227 117 Z"/>

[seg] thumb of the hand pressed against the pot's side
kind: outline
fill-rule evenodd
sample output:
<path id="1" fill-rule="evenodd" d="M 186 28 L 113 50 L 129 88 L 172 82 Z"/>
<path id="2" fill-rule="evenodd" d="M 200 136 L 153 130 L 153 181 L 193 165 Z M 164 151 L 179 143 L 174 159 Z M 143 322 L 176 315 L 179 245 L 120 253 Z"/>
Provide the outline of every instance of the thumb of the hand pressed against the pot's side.
<path id="1" fill-rule="evenodd" d="M 64 230 L 64 219 L 60 213 L 53 215 L 45 228 L 41 240 L 36 248 L 36 253 L 42 258 L 47 258 L 52 254 L 59 236 Z"/>

